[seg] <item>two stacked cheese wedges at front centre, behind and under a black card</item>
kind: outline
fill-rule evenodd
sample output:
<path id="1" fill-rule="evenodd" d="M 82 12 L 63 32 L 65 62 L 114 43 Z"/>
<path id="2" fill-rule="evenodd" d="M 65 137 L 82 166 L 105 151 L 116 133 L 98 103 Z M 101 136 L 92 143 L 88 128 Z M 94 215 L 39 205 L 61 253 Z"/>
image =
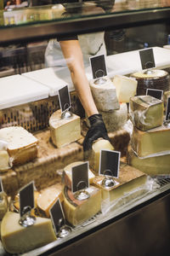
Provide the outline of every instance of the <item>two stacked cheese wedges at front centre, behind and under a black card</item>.
<path id="1" fill-rule="evenodd" d="M 63 172 L 64 201 L 63 209 L 66 220 L 76 226 L 93 217 L 101 209 L 101 191 L 100 189 L 90 185 L 86 191 L 89 193 L 89 198 L 83 201 L 77 200 L 74 193 L 71 191 L 72 177 L 71 169 L 73 166 L 81 165 L 83 162 L 74 162 L 69 166 L 65 166 Z M 88 170 L 89 183 L 94 182 L 94 174 Z"/>

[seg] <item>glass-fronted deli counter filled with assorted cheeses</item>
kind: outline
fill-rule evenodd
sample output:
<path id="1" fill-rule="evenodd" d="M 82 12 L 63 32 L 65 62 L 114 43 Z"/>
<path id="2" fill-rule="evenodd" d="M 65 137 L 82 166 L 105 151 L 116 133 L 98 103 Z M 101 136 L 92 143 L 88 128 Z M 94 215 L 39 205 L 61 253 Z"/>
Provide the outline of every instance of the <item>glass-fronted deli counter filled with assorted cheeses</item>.
<path id="1" fill-rule="evenodd" d="M 107 75 L 100 79 L 85 65 L 110 138 L 95 141 L 88 154 L 82 143 L 90 124 L 68 68 L 26 65 L 27 45 L 44 55 L 51 38 L 147 22 L 166 24 L 168 32 L 169 17 L 169 1 L 156 0 L 1 11 L 0 255 L 169 254 L 170 50 L 164 42 L 151 48 L 151 70 L 142 71 L 140 49 L 105 56 Z M 17 45 L 24 53 L 20 69 L 21 59 L 12 58 Z M 4 73 L 7 66 L 12 73 Z M 63 118 L 65 84 L 71 113 Z M 161 98 L 145 95 L 147 89 L 161 90 Z M 23 199 L 32 182 L 32 196 Z M 33 206 L 23 207 L 28 199 Z"/>

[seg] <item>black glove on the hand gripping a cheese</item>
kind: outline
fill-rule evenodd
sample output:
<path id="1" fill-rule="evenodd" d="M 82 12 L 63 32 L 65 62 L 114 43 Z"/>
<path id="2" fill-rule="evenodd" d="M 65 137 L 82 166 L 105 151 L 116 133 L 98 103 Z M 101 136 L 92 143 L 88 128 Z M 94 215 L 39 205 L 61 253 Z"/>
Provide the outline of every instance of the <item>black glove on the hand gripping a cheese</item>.
<path id="1" fill-rule="evenodd" d="M 110 141 L 107 130 L 105 128 L 104 121 L 102 119 L 102 115 L 100 113 L 93 114 L 89 118 L 90 128 L 88 129 L 87 135 L 83 141 L 83 149 L 84 151 L 88 151 L 92 148 L 92 143 L 97 140 L 99 137 L 103 137 L 105 140 Z"/>

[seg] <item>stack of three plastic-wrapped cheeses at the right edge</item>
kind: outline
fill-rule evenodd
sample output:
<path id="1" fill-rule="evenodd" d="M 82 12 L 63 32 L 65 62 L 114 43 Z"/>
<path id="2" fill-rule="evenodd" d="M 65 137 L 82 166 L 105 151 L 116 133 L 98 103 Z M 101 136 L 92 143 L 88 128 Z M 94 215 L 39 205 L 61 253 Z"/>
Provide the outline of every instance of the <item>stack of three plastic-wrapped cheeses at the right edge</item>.
<path id="1" fill-rule="evenodd" d="M 150 176 L 170 174 L 170 127 L 163 125 L 163 102 L 152 96 L 130 101 L 133 136 L 128 162 Z"/>

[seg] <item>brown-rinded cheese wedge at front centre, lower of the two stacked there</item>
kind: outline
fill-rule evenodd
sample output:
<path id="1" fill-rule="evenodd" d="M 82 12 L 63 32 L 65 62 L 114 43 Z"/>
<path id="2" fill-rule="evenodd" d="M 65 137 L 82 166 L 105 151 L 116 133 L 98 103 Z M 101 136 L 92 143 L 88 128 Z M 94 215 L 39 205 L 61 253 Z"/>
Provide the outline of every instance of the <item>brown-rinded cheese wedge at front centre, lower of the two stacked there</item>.
<path id="1" fill-rule="evenodd" d="M 79 201 L 74 197 L 71 189 L 67 187 L 64 189 L 63 209 L 65 218 L 73 226 L 82 224 L 101 209 L 100 189 L 90 186 L 86 191 L 88 191 L 90 197 L 84 201 Z"/>

